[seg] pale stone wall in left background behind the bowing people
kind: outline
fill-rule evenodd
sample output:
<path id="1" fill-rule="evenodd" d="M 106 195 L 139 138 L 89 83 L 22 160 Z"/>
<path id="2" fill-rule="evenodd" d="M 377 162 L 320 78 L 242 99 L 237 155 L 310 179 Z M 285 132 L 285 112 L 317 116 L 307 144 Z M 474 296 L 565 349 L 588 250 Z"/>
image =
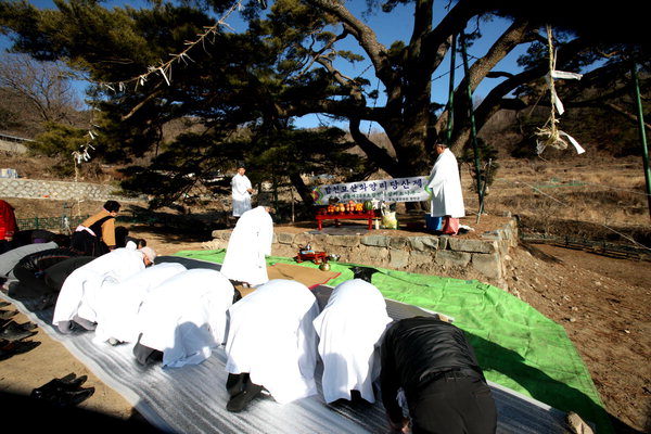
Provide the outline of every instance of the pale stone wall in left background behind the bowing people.
<path id="1" fill-rule="evenodd" d="M 101 183 L 0 178 L 0 197 L 136 201 L 116 195 L 116 190 L 118 189 L 114 186 Z"/>

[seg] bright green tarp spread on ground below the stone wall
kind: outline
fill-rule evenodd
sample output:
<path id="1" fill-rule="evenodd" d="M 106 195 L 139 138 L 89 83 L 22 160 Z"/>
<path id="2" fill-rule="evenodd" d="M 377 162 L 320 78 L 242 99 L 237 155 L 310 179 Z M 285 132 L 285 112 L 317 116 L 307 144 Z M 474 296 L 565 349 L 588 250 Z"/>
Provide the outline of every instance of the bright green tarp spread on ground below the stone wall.
<path id="1" fill-rule="evenodd" d="M 182 251 L 176 255 L 221 264 L 225 250 Z M 267 264 L 296 264 L 268 257 Z M 299 264 L 317 268 L 312 263 Z M 341 272 L 329 285 L 353 279 L 356 264 L 330 263 Z M 500 290 L 476 280 L 459 280 L 376 268 L 372 283 L 384 297 L 445 314 L 455 319 L 475 349 L 486 378 L 612 433 L 590 374 L 565 330 Z"/>

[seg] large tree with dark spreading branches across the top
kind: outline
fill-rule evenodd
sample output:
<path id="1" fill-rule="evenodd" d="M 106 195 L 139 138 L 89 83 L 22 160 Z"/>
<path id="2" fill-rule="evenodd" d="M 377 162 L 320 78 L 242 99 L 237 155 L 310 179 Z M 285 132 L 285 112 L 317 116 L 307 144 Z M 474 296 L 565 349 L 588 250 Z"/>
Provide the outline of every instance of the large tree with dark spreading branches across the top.
<path id="1" fill-rule="evenodd" d="M 425 174 L 433 159 L 432 146 L 441 140 L 450 117 L 447 108 L 439 110 L 447 101 L 433 100 L 432 79 L 449 67 L 443 61 L 452 37 L 463 35 L 472 43 L 482 37 L 477 23 L 494 15 L 511 23 L 485 54 L 472 62 L 455 89 L 454 146 L 464 145 L 470 135 L 464 93 L 469 87 L 474 92 L 488 77 L 503 79 L 474 107 L 477 128 L 500 108 L 549 102 L 541 85 L 549 73 L 546 35 L 540 31 L 546 23 L 574 30 L 554 39 L 556 68 L 561 71 L 593 63 L 598 50 L 608 48 L 617 49 L 609 54 L 615 52 L 611 59 L 620 62 L 604 63 L 595 75 L 610 72 L 614 76 L 623 65 L 628 67 L 621 62 L 622 53 L 635 44 L 625 33 L 599 38 L 602 34 L 583 22 L 567 20 L 578 17 L 567 10 L 558 15 L 545 8 L 527 11 L 509 0 L 450 1 L 444 14 L 437 12 L 433 0 L 368 0 L 368 13 L 392 14 L 397 5 L 413 11 L 409 40 L 390 47 L 382 44 L 376 30 L 343 1 L 277 0 L 265 13 L 260 8 L 265 2 L 248 1 L 244 10 L 250 18 L 247 31 L 227 33 L 218 26 L 202 37 L 188 56 L 178 56 L 166 69 L 162 66 L 169 53 L 182 52 L 197 35 L 205 35 L 216 16 L 234 2 L 197 0 L 192 4 L 200 7 L 191 8 L 184 1 L 155 1 L 143 10 L 106 10 L 94 0 L 54 2 L 58 11 L 4 2 L 0 4 L 0 24 L 4 31 L 15 35 L 15 50 L 42 60 L 65 60 L 94 82 L 107 85 L 98 86 L 94 97 L 103 113 L 98 124 L 112 158 L 140 155 L 157 146 L 163 126 L 178 118 L 200 119 L 207 128 L 202 136 L 204 144 L 214 146 L 214 154 L 226 143 L 221 140 L 225 131 L 245 125 L 253 138 L 237 151 L 251 158 L 259 153 L 255 143 L 271 143 L 295 117 L 326 114 L 346 120 L 353 139 L 369 159 L 391 176 Z M 615 21 L 617 13 L 611 13 Z M 604 23 L 596 26 L 600 24 Z M 358 50 L 341 48 L 348 39 Z M 496 71 L 498 63 L 522 44 L 531 47 L 522 72 L 507 75 Z M 624 46 L 626 51 L 621 50 Z M 376 105 L 374 82 L 347 76 L 337 68 L 340 60 L 370 63 L 385 102 Z M 582 80 L 586 81 L 595 82 Z M 603 105 L 603 101 L 596 103 Z M 391 141 L 388 149 L 361 131 L 365 120 L 382 127 Z"/>

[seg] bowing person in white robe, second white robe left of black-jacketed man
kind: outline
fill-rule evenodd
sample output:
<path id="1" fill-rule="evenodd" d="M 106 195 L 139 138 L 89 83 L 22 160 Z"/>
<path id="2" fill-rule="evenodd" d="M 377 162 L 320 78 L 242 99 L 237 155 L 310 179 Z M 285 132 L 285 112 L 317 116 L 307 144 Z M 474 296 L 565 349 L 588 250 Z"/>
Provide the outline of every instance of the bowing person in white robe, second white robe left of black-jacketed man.
<path id="1" fill-rule="evenodd" d="M 231 375 L 246 375 L 258 387 L 251 393 L 246 386 L 232 391 L 227 384 L 229 411 L 242 410 L 261 387 L 280 404 L 317 394 L 312 321 L 319 306 L 306 285 L 270 280 L 232 305 L 228 314 L 226 370 Z"/>

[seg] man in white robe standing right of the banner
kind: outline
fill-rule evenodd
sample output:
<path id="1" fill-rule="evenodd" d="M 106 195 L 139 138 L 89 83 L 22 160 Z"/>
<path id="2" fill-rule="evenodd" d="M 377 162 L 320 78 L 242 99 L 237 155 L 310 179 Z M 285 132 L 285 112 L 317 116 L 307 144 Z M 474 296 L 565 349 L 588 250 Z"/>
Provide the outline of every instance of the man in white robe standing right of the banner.
<path id="1" fill-rule="evenodd" d="M 432 193 L 430 215 L 443 217 L 441 232 L 456 235 L 459 232 L 459 218 L 465 216 L 461 178 L 455 154 L 443 143 L 435 146 L 438 157 L 427 179 Z"/>

